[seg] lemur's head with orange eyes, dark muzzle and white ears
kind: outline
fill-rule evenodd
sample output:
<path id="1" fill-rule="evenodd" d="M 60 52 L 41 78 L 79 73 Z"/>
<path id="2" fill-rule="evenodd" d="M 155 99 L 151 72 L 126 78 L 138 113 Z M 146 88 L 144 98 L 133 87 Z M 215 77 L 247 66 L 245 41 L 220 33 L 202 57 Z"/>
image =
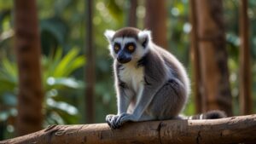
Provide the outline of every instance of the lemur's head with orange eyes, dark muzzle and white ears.
<path id="1" fill-rule="evenodd" d="M 113 59 L 125 64 L 140 60 L 148 52 L 151 40 L 150 31 L 140 31 L 137 28 L 125 27 L 117 32 L 107 30 L 104 35 L 108 38 L 108 49 Z"/>

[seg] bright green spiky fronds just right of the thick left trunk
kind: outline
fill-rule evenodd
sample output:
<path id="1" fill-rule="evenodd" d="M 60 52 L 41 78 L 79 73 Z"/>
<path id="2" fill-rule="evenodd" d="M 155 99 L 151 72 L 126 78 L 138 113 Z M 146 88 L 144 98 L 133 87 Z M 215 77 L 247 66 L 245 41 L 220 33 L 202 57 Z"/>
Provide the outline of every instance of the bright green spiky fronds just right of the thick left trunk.
<path id="1" fill-rule="evenodd" d="M 44 89 L 46 91 L 46 115 L 47 122 L 64 122 L 61 124 L 73 124 L 78 122 L 78 109 L 67 103 L 67 95 L 78 95 L 74 89 L 83 89 L 84 84 L 72 77 L 72 73 L 84 66 L 84 56 L 79 55 L 79 49 L 71 49 L 62 57 L 62 50 L 57 49 L 55 55 L 49 58 L 43 57 Z M 61 100 L 61 101 L 60 101 Z M 59 118 L 56 116 L 59 115 Z"/>

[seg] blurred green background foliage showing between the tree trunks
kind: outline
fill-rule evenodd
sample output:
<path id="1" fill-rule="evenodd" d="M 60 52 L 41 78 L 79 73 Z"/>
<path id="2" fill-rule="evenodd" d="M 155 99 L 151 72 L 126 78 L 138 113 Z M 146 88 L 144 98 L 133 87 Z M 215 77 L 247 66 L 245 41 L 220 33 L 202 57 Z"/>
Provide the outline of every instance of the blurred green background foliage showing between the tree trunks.
<path id="1" fill-rule="evenodd" d="M 249 0 L 250 48 L 253 74 L 253 108 L 256 110 L 256 1 Z M 85 124 L 84 57 L 86 14 L 79 0 L 38 0 L 44 98 L 44 126 L 48 124 Z M 168 50 L 177 55 L 189 72 L 189 1 L 167 3 Z M 234 113 L 238 114 L 238 0 L 223 1 L 227 49 L 229 54 L 231 94 Z M 13 137 L 17 115 L 17 68 L 14 54 L 14 12 L 12 0 L 0 0 L 0 140 Z M 127 26 L 130 1 L 95 0 L 93 35 L 96 49 L 96 123 L 103 123 L 108 113 L 116 112 L 113 91 L 112 59 L 106 29 Z M 143 29 L 145 8 L 137 7 L 138 28 Z M 231 25 L 230 25 L 231 24 Z M 68 68 L 67 68 L 68 67 Z M 193 84 L 193 82 L 192 82 Z M 193 96 L 193 95 L 192 95 Z M 194 114 L 192 96 L 184 114 Z"/>

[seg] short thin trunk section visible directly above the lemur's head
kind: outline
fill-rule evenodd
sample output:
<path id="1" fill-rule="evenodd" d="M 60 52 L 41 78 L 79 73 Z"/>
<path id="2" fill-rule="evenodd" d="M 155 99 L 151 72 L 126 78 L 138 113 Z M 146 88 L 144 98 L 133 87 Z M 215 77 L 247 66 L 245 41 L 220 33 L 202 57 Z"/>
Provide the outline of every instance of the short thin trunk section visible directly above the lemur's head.
<path id="1" fill-rule="evenodd" d="M 131 0 L 128 15 L 128 26 L 137 27 L 137 0 Z"/>

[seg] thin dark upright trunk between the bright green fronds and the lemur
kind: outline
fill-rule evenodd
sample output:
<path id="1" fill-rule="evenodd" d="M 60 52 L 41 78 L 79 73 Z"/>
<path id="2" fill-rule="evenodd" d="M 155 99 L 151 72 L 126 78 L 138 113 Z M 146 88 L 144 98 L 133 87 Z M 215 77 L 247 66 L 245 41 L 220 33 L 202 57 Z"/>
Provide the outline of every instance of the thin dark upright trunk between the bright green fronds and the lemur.
<path id="1" fill-rule="evenodd" d="M 95 121 L 95 48 L 93 45 L 93 26 L 92 26 L 92 0 L 86 0 L 86 39 L 85 39 L 85 51 L 86 51 L 86 66 L 85 66 L 85 112 L 86 123 L 94 123 Z"/>

